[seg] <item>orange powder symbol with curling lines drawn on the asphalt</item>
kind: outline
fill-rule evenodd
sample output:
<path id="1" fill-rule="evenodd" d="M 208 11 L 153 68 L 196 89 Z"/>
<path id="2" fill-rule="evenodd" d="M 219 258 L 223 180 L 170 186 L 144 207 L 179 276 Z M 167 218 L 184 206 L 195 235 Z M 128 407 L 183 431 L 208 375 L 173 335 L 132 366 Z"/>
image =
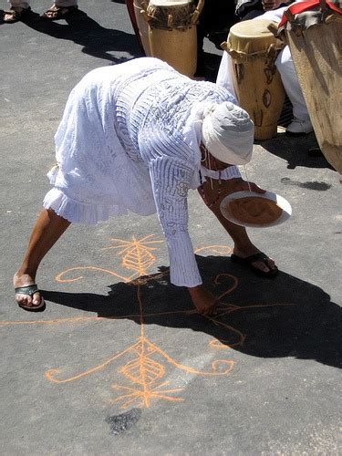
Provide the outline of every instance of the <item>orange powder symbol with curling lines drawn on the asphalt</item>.
<path id="1" fill-rule="evenodd" d="M 83 278 L 80 275 L 82 272 L 87 274 L 91 272 L 107 274 L 119 278 L 130 285 L 135 286 L 136 290 L 136 301 L 138 304 L 138 312 L 133 312 L 128 316 L 74 316 L 69 318 L 59 318 L 53 320 L 41 320 L 41 321 L 17 321 L 17 322 L 0 322 L 0 326 L 14 326 L 14 325 L 55 325 L 61 323 L 81 323 L 88 322 L 91 320 L 110 322 L 113 320 L 120 320 L 122 318 L 131 318 L 134 321 L 140 323 L 140 336 L 134 338 L 129 347 L 124 348 L 119 353 L 112 354 L 109 358 L 103 359 L 101 362 L 97 361 L 96 365 L 90 368 L 86 368 L 78 374 L 74 374 L 69 378 L 65 378 L 60 368 L 50 368 L 46 371 L 46 378 L 56 384 L 67 384 L 82 378 L 86 378 L 90 375 L 100 373 L 103 369 L 109 368 L 112 363 L 121 361 L 121 366 L 118 371 L 129 381 L 129 385 L 118 385 L 113 384 L 112 389 L 119 391 L 119 396 L 115 399 L 111 399 L 112 403 L 120 403 L 121 409 L 127 409 L 131 404 L 139 404 L 142 407 L 149 408 L 152 399 L 160 399 L 167 401 L 181 401 L 180 397 L 177 397 L 177 393 L 183 390 L 183 388 L 170 388 L 171 381 L 167 379 L 167 376 L 171 374 L 172 370 L 179 369 L 183 373 L 193 376 L 202 377 L 218 377 L 227 376 L 232 371 L 234 361 L 232 359 L 214 359 L 211 362 L 210 368 L 197 368 L 196 366 L 189 366 L 178 362 L 172 358 L 169 353 L 164 351 L 162 347 L 151 341 L 149 337 L 145 335 L 146 327 L 145 320 L 152 316 L 189 316 L 192 317 L 196 314 L 194 307 L 182 310 L 170 310 L 164 312 L 144 312 L 144 303 L 142 300 L 142 290 L 147 282 L 155 280 L 163 275 L 167 274 L 167 271 L 148 275 L 150 266 L 155 264 L 157 261 L 156 256 L 152 253 L 157 250 L 158 244 L 162 244 L 163 241 L 157 239 L 154 235 L 148 235 L 140 239 L 132 236 L 130 241 L 121 239 L 111 239 L 112 244 L 103 250 L 115 250 L 116 255 L 120 258 L 120 265 L 125 269 L 131 271 L 130 275 L 119 275 L 117 271 L 111 271 L 98 266 L 83 266 L 74 267 L 63 271 L 56 277 L 59 283 L 70 283 L 75 282 Z M 214 254 L 230 254 L 232 249 L 226 245 L 209 245 L 203 246 L 195 250 L 195 253 L 214 253 Z M 138 277 L 138 278 L 137 278 Z M 213 285 L 223 285 L 225 290 L 218 299 L 221 301 L 227 295 L 233 292 L 238 285 L 238 279 L 234 275 L 219 274 L 213 279 Z M 148 290 L 149 292 L 149 290 Z M 222 303 L 218 307 L 217 316 L 205 316 L 208 323 L 213 326 L 218 326 L 225 330 L 229 337 L 226 340 L 213 339 L 209 342 L 209 346 L 215 349 L 223 349 L 229 347 L 237 347 L 244 343 L 245 335 L 238 328 L 228 325 L 223 317 L 230 316 L 233 312 L 245 311 L 246 309 L 254 309 L 257 307 L 268 307 L 268 306 L 292 306 L 291 304 L 274 304 L 274 305 L 261 305 L 261 306 L 235 306 L 226 302 Z M 125 358 L 124 358 L 125 357 Z"/>

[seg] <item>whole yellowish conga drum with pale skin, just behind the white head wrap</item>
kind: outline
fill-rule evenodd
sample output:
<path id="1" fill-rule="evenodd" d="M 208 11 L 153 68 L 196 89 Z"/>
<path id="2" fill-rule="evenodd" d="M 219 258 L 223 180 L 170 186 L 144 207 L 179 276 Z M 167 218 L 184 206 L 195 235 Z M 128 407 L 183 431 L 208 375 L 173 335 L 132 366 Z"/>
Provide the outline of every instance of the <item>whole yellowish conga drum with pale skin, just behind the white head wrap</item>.
<path id="1" fill-rule="evenodd" d="M 255 140 L 276 135 L 285 89 L 275 67 L 284 43 L 268 30 L 268 19 L 247 20 L 231 27 L 221 46 L 233 58 L 233 86 L 239 105 L 254 121 Z M 275 25 L 276 26 L 276 25 Z"/>

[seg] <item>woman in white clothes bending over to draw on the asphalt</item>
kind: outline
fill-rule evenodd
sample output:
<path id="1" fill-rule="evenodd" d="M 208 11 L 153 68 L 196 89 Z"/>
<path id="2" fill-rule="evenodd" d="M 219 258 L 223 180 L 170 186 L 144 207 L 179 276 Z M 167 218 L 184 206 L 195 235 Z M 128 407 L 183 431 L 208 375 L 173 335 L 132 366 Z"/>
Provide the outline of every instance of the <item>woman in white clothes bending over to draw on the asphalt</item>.
<path id="1" fill-rule="evenodd" d="M 72 90 L 57 130 L 57 168 L 48 174 L 54 187 L 14 277 L 18 305 L 44 309 L 36 271 L 70 223 L 157 212 L 171 283 L 186 286 L 198 311 L 211 313 L 216 298 L 202 286 L 188 233 L 189 189 L 200 189 L 232 236 L 233 258 L 257 274 L 275 275 L 273 260 L 219 211 L 221 188 L 225 194 L 248 189 L 233 165 L 250 160 L 253 138 L 253 122 L 228 90 L 193 81 L 156 58 L 88 73 Z"/>

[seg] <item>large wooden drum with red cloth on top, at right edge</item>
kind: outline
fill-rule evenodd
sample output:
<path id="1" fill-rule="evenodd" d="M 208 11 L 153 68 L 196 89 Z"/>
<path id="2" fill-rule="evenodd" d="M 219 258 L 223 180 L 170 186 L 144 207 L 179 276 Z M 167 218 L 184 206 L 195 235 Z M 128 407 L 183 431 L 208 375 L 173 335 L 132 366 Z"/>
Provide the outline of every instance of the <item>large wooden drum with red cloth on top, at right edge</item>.
<path id="1" fill-rule="evenodd" d="M 337 2 L 310 1 L 291 6 L 286 17 L 280 27 L 319 147 L 342 174 L 342 10 Z"/>

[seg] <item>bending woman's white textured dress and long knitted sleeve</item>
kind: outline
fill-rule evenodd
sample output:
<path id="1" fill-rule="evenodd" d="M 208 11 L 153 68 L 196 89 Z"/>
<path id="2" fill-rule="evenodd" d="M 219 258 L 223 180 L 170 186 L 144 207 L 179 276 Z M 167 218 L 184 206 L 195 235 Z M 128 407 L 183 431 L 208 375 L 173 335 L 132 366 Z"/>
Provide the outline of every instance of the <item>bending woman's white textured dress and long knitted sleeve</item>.
<path id="1" fill-rule="evenodd" d="M 91 71 L 67 100 L 55 136 L 58 168 L 48 174 L 54 188 L 44 207 L 72 223 L 157 212 L 171 283 L 202 284 L 188 233 L 187 193 L 200 186 L 200 171 L 212 172 L 201 166 L 203 101 L 235 99 L 151 57 Z M 234 166 L 221 174 L 234 177 L 240 177 Z"/>

